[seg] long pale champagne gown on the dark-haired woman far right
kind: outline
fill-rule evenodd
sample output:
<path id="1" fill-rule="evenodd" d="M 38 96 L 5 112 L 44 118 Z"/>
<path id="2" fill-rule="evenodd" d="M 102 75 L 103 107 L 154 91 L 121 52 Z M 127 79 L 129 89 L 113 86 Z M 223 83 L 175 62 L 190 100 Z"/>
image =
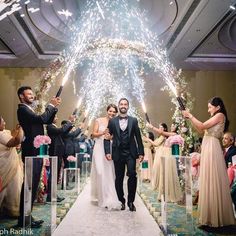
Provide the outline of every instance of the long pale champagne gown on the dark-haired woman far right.
<path id="1" fill-rule="evenodd" d="M 220 139 L 224 123 L 205 130 L 199 177 L 199 224 L 220 227 L 235 224 L 229 180 Z"/>

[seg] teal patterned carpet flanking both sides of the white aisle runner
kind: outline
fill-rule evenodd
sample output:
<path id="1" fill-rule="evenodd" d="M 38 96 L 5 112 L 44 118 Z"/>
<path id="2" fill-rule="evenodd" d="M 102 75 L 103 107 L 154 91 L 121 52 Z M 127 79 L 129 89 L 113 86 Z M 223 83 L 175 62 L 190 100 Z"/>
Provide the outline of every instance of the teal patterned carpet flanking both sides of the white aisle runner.
<path id="1" fill-rule="evenodd" d="M 85 186 L 86 181 L 81 180 L 81 191 Z M 150 183 L 142 183 L 138 185 L 138 193 L 143 202 L 147 206 L 151 215 L 154 217 L 165 235 L 236 235 L 236 227 L 222 227 L 222 228 L 204 228 L 197 227 L 197 207 L 193 208 L 193 217 L 186 218 L 186 211 L 183 205 L 176 203 L 169 203 L 167 206 L 167 231 L 163 229 L 161 219 L 161 203 L 158 202 L 157 192 L 151 189 Z M 75 202 L 78 193 L 75 189 L 59 190 L 58 195 L 65 197 L 61 203 L 57 204 L 57 224 L 59 224 L 65 217 L 68 210 Z M 44 224 L 39 229 L 27 229 L 25 235 L 50 236 L 50 204 L 35 204 L 32 214 L 36 219 L 44 220 Z M 187 222 L 187 223 L 186 223 Z M 16 228 L 16 219 L 0 218 L 0 235 L 23 235 L 22 229 Z M 152 236 L 152 235 L 150 235 Z"/>

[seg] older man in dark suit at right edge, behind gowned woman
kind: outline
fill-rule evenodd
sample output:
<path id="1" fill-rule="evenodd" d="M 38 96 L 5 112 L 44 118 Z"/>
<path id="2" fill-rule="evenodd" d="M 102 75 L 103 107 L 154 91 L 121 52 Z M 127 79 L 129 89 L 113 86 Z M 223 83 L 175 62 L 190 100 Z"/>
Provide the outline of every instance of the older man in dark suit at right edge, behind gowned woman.
<path id="1" fill-rule="evenodd" d="M 225 133 L 222 139 L 222 143 L 224 147 L 225 164 L 228 168 L 229 163 L 232 164 L 232 156 L 236 155 L 236 147 L 234 146 L 233 134 L 230 132 Z"/>

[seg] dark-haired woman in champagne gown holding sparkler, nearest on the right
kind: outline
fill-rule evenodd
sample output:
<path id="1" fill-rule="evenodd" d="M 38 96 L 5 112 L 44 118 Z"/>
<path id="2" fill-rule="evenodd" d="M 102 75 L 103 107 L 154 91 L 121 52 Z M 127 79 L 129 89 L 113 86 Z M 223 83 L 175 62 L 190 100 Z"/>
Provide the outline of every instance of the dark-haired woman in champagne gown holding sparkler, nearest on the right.
<path id="1" fill-rule="evenodd" d="M 219 97 L 209 100 L 208 112 L 211 117 L 205 122 L 199 121 L 189 111 L 182 111 L 182 114 L 198 132 L 204 132 L 199 177 L 199 224 L 221 227 L 235 224 L 229 180 L 220 144 L 229 121 L 224 103 Z"/>

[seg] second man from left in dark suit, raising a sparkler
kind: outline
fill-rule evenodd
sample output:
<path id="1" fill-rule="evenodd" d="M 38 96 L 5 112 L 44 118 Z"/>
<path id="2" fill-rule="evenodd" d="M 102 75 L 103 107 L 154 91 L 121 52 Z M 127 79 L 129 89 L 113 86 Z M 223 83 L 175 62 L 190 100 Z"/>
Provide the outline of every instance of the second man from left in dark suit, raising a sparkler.
<path id="1" fill-rule="evenodd" d="M 65 135 L 70 132 L 73 128 L 73 123 L 75 121 L 75 116 L 71 115 L 69 117 L 69 121 L 62 125 L 61 127 L 57 127 L 58 117 L 55 115 L 53 123 L 47 125 L 47 134 L 51 138 L 51 144 L 49 146 L 49 155 L 57 156 L 57 181 L 59 180 L 60 170 L 62 159 L 65 153 L 65 144 L 62 140 L 62 135 Z M 51 202 L 51 171 L 48 177 L 48 194 L 47 194 L 47 202 Z M 57 196 L 57 202 L 63 201 L 64 198 Z"/>

